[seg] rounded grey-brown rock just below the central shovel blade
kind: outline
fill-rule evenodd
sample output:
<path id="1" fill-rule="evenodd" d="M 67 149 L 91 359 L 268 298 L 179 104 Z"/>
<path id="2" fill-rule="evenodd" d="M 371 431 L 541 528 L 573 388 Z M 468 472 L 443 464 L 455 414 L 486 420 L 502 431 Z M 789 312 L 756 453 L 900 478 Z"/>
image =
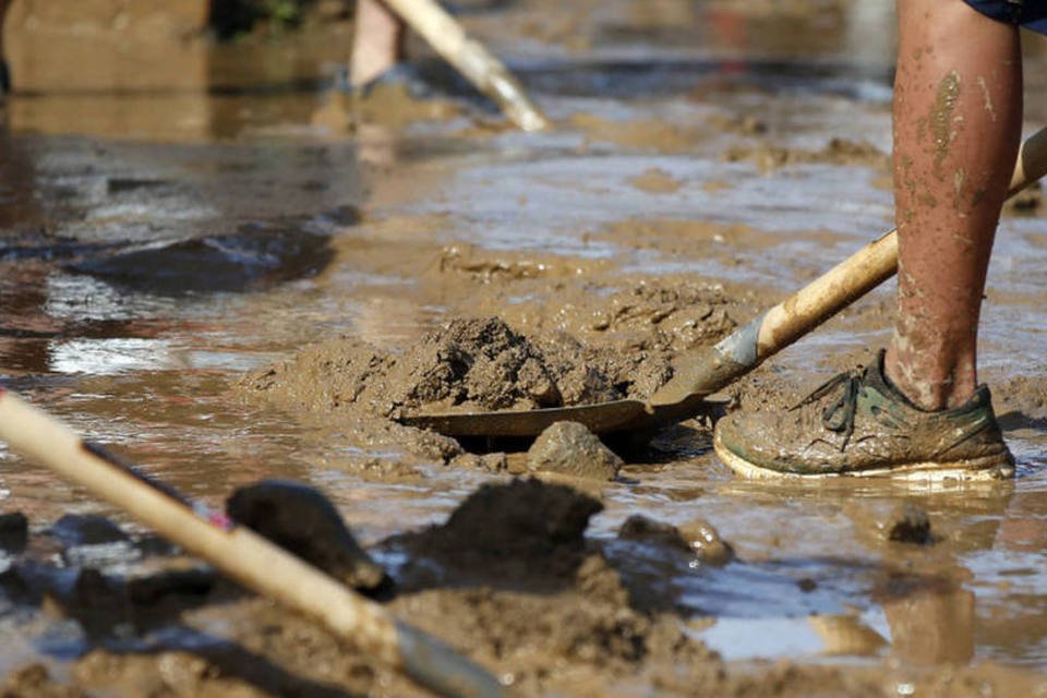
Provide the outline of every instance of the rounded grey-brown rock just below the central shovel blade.
<path id="1" fill-rule="evenodd" d="M 527 452 L 527 468 L 531 472 L 614 480 L 623 465 L 622 458 L 578 422 L 556 422 Z"/>

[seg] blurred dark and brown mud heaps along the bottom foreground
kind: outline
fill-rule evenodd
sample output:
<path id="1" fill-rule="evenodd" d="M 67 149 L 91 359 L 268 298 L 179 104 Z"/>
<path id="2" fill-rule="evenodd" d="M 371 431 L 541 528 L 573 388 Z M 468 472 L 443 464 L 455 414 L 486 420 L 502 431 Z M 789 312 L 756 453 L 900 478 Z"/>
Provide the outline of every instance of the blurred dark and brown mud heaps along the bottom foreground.
<path id="1" fill-rule="evenodd" d="M 285 545 L 308 533 L 313 551 L 323 551 L 311 561 L 341 578 L 350 558 L 387 574 L 378 601 L 386 610 L 524 696 L 887 697 L 903 682 L 920 695 L 1035 693 L 1038 677 L 991 664 L 922 673 L 890 664 L 730 664 L 696 637 L 714 619 L 685 611 L 658 579 L 714 575 L 745 559 L 732 553 L 708 565 L 713 561 L 687 542 L 694 526 L 634 519 L 614 539 L 587 535 L 601 508 L 533 479 L 488 484 L 444 524 L 363 551 L 318 492 L 268 482 L 229 500 L 230 514 L 282 514 L 241 522 L 264 524 Z M 5 625 L 65 638 L 41 642 L 36 660 L 10 672 L 0 684 L 5 698 L 426 695 L 155 538 L 101 517 L 68 516 L 43 528 L 17 513 L 3 517 L 0 600 L 14 609 Z M 697 526 L 708 539 L 711 525 Z"/>

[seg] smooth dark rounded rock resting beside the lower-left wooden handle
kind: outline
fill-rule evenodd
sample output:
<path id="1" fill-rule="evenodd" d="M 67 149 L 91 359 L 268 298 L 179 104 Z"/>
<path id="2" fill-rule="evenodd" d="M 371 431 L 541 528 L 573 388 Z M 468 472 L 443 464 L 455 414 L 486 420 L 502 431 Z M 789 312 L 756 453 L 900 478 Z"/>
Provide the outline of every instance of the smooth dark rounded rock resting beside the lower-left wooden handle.
<path id="1" fill-rule="evenodd" d="M 264 480 L 237 490 L 226 510 L 239 524 L 351 587 L 377 590 L 388 581 L 330 501 L 313 488 Z"/>

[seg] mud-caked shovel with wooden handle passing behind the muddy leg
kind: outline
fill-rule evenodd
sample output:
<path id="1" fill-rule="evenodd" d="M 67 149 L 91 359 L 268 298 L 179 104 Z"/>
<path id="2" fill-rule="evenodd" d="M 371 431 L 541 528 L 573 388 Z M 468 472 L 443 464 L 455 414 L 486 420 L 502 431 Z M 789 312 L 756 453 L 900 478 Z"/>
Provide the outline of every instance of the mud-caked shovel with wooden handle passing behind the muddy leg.
<path id="1" fill-rule="evenodd" d="M 1047 129 L 1021 147 L 1008 196 L 1047 173 Z M 597 434 L 639 433 L 691 417 L 715 414 L 722 404 L 706 398 L 731 385 L 898 270 L 898 231 L 892 230 L 844 260 L 785 301 L 712 347 L 687 351 L 673 377 L 647 400 L 626 399 L 538 410 L 417 413 L 405 424 L 448 436 L 537 436 L 554 422 L 580 422 Z"/>

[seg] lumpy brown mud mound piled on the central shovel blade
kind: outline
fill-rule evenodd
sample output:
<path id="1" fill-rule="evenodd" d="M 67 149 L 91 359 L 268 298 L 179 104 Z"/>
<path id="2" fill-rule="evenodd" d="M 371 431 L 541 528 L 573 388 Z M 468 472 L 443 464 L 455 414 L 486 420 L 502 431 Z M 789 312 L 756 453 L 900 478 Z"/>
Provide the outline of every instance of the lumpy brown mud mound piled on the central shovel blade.
<path id="1" fill-rule="evenodd" d="M 566 334 L 528 338 L 504 321 L 453 320 L 402 353 L 359 340 L 327 341 L 241 382 L 294 411 L 529 410 L 645 397 L 672 375 L 657 351 L 624 356 Z"/>

